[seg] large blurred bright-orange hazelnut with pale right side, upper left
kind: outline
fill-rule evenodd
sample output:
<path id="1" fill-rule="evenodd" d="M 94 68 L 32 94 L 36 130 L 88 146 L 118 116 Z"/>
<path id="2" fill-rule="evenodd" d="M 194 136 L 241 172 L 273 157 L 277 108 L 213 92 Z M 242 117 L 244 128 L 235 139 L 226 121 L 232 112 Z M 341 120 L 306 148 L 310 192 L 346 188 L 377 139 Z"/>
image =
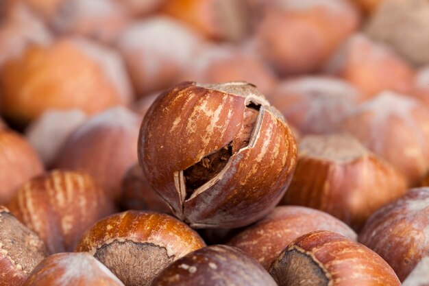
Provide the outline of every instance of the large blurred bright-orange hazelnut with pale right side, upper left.
<path id="1" fill-rule="evenodd" d="M 90 56 L 95 51 L 99 51 L 97 58 Z M 49 108 L 80 108 L 93 114 L 127 103 L 130 98 L 111 78 L 121 71 L 104 69 L 112 65 L 112 58 L 99 63 L 105 54 L 121 66 L 116 54 L 82 39 L 63 38 L 50 47 L 28 47 L 21 58 L 6 62 L 0 74 L 3 115 L 27 123 Z"/>

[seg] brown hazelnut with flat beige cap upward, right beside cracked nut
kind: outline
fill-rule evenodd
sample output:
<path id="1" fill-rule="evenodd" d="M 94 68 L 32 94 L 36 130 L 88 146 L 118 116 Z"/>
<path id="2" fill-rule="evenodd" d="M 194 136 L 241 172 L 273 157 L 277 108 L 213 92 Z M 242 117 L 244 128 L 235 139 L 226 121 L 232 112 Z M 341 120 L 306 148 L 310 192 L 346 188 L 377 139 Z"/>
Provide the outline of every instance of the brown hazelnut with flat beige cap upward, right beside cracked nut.
<path id="1" fill-rule="evenodd" d="M 371 213 L 405 191 L 403 176 L 352 136 L 309 135 L 299 142 L 282 203 L 317 208 L 359 230 Z"/>

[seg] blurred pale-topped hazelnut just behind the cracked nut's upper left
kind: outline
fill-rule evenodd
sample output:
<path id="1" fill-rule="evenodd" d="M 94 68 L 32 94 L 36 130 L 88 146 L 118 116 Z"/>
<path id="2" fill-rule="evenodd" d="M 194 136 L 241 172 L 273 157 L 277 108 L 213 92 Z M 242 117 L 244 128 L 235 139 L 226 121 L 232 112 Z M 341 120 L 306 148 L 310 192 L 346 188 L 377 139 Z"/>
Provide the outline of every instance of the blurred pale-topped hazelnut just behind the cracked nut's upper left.
<path id="1" fill-rule="evenodd" d="M 128 26 L 117 46 L 137 96 L 143 97 L 178 82 L 203 42 L 182 23 L 167 16 L 154 16 Z"/>

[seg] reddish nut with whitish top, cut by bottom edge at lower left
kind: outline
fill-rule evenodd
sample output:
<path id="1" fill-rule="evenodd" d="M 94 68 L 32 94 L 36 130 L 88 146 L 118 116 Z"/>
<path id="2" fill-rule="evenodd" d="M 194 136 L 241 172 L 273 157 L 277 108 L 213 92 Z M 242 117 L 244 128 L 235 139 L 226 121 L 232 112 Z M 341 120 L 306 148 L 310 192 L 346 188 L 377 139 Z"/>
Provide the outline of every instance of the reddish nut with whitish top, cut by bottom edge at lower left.
<path id="1" fill-rule="evenodd" d="M 23 286 L 124 286 L 88 253 L 58 253 L 33 270 Z"/>

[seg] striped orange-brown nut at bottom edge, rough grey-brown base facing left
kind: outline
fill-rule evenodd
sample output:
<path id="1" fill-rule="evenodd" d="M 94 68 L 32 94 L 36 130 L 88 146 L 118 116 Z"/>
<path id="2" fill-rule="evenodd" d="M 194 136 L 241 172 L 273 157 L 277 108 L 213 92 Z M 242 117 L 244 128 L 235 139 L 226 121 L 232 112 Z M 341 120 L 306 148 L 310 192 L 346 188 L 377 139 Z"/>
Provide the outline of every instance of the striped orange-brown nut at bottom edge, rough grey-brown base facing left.
<path id="1" fill-rule="evenodd" d="M 269 273 L 279 286 L 401 285 L 376 252 L 324 230 L 295 239 L 273 261 Z"/>

